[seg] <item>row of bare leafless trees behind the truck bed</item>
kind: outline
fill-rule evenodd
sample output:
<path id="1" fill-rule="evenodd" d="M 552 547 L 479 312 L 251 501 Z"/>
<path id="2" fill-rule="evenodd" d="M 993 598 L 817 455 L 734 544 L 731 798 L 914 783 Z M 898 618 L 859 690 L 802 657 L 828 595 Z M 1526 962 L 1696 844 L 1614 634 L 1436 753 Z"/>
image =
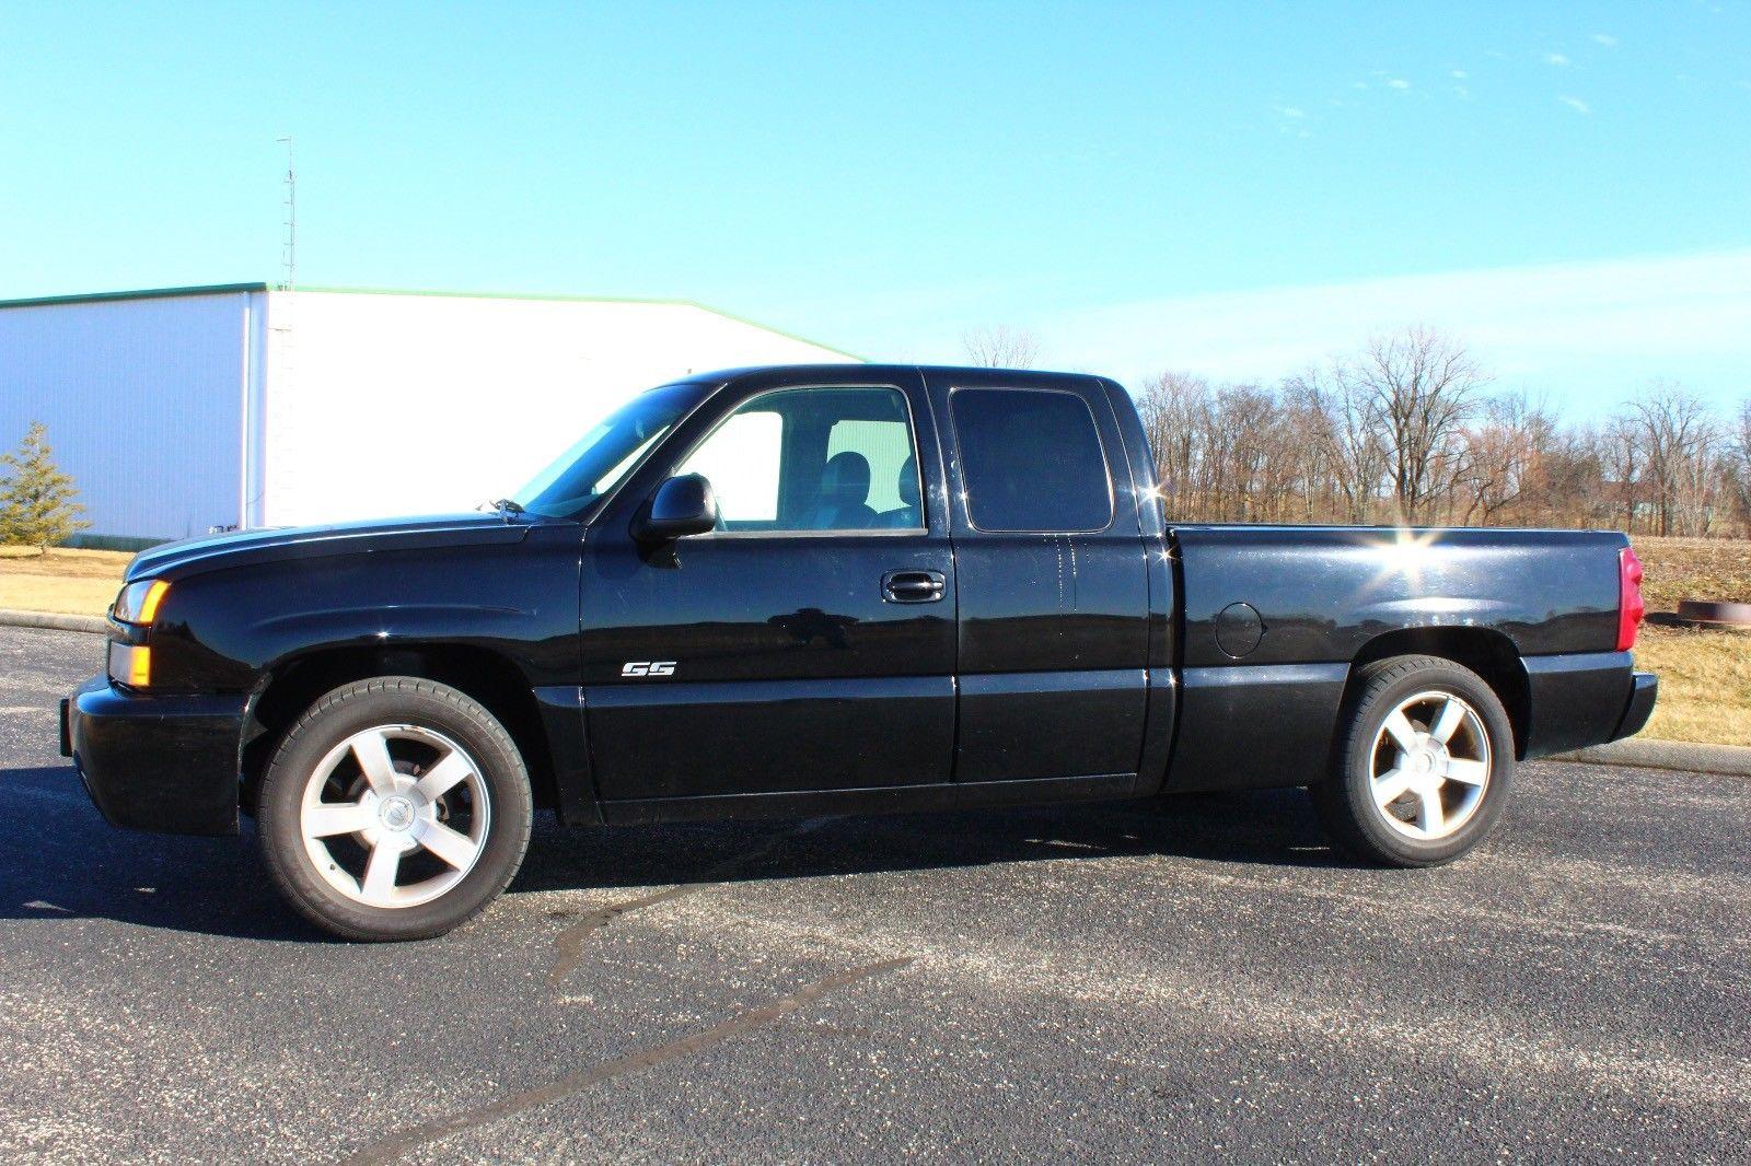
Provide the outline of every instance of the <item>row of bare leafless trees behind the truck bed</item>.
<path id="1" fill-rule="evenodd" d="M 967 345 L 981 362 L 1031 362 L 1038 347 L 982 338 Z M 1136 404 L 1177 522 L 1751 536 L 1751 397 L 1723 415 L 1655 382 L 1604 420 L 1567 422 L 1523 390 L 1492 390 L 1469 348 L 1432 327 L 1276 383 L 1161 373 Z"/>

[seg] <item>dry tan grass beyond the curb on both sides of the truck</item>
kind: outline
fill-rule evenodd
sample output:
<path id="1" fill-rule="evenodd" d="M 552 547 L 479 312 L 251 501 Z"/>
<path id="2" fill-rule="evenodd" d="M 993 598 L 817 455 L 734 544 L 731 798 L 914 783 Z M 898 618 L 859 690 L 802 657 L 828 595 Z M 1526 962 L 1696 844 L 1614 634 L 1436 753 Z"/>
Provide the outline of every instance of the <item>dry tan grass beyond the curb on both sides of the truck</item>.
<path id="1" fill-rule="evenodd" d="M 1648 609 L 1679 599 L 1751 602 L 1751 543 L 1635 539 Z M 0 546 L 0 608 L 103 615 L 121 587 L 123 551 L 35 551 Z M 1751 746 L 1751 632 L 1648 625 L 1635 664 L 1660 674 L 1660 704 L 1644 737 Z"/>

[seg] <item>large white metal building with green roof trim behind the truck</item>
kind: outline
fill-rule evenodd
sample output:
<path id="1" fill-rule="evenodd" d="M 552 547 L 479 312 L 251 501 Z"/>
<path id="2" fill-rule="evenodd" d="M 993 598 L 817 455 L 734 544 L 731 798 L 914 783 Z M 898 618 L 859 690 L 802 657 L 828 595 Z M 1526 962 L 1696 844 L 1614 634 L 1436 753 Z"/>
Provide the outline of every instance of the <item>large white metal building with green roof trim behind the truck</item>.
<path id="1" fill-rule="evenodd" d="M 651 385 L 853 359 L 692 305 L 256 287 L 0 305 L 0 446 L 46 422 L 98 536 L 440 513 Z"/>

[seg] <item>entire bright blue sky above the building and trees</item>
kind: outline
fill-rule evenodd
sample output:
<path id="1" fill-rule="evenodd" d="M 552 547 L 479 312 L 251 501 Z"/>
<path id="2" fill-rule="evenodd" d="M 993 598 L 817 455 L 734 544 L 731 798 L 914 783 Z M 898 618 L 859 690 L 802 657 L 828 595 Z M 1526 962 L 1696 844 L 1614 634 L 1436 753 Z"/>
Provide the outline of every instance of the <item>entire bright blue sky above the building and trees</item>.
<path id="1" fill-rule="evenodd" d="M 277 278 L 284 133 L 306 282 L 1751 392 L 1744 4 L 0 5 L 0 296 Z"/>

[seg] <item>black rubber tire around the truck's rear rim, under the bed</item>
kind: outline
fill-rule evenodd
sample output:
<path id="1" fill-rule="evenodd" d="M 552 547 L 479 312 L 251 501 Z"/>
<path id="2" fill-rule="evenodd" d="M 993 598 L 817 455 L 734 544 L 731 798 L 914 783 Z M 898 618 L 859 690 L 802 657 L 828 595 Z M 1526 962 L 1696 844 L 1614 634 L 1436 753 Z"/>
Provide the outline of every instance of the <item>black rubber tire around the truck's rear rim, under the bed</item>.
<path id="1" fill-rule="evenodd" d="M 1422 693 L 1459 697 L 1471 707 L 1488 741 L 1488 781 L 1481 786 L 1469 816 L 1441 839 L 1408 837 L 1401 804 L 1420 804 L 1420 795 L 1406 793 L 1382 807 L 1375 798 L 1376 758 L 1394 749 L 1382 741 L 1387 718 L 1401 702 Z M 1413 725 L 1415 720 L 1411 721 Z M 1464 732 L 1476 735 L 1467 720 Z M 1420 727 L 1429 728 L 1429 727 Z M 1471 742 L 1474 744 L 1474 742 Z M 1480 758 L 1481 760 L 1481 758 Z M 1483 842 L 1502 816 L 1515 781 L 1515 734 L 1495 692 L 1471 669 L 1439 657 L 1394 657 L 1362 667 L 1355 678 L 1347 720 L 1340 725 L 1336 770 L 1310 788 L 1319 818 L 1341 849 L 1389 867 L 1438 867 L 1450 863 Z M 1462 791 L 1464 793 L 1464 791 Z M 1399 818 L 1401 826 L 1387 821 Z"/>

